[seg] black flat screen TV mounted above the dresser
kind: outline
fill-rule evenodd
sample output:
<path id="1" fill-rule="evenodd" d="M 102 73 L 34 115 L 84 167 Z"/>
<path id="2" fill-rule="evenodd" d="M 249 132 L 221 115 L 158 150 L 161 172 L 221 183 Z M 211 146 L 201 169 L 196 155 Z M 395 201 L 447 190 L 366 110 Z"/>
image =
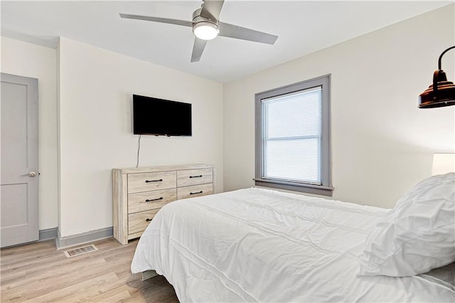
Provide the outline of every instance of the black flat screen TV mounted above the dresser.
<path id="1" fill-rule="evenodd" d="M 191 104 L 133 95 L 134 134 L 191 136 Z"/>

